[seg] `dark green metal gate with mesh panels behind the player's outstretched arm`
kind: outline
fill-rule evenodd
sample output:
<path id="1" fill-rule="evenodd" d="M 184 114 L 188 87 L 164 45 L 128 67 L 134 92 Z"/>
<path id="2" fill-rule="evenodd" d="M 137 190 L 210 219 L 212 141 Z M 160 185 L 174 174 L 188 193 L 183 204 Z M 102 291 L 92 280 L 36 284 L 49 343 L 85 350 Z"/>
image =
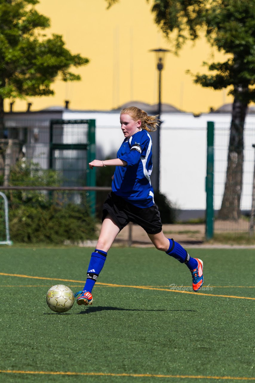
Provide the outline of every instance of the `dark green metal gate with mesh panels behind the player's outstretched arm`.
<path id="1" fill-rule="evenodd" d="M 50 121 L 49 167 L 62 177 L 62 186 L 96 186 L 89 162 L 95 158 L 95 120 Z M 79 194 L 73 195 L 79 201 Z M 96 193 L 88 191 L 91 214 L 95 214 Z"/>

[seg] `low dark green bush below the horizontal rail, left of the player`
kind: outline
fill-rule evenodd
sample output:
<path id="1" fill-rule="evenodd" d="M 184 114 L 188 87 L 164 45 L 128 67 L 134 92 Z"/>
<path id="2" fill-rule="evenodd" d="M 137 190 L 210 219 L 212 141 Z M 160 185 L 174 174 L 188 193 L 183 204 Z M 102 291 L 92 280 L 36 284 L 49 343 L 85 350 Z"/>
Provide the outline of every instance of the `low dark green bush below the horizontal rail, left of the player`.
<path id="1" fill-rule="evenodd" d="M 86 206 L 19 205 L 10 209 L 10 237 L 20 243 L 63 244 L 92 239 L 95 223 Z"/>

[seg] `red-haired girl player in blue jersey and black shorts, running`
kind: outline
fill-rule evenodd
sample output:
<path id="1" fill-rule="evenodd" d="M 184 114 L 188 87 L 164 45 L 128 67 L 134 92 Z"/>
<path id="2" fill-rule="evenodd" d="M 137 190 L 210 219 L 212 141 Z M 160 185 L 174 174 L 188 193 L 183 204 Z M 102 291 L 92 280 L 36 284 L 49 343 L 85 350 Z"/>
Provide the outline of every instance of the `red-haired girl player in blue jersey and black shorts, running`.
<path id="1" fill-rule="evenodd" d="M 152 152 L 148 132 L 157 129 L 156 116 L 148 116 L 145 111 L 132 106 L 122 109 L 120 126 L 125 138 L 117 158 L 89 163 L 90 169 L 94 166 L 115 166 L 115 172 L 112 191 L 103 205 L 102 227 L 96 249 L 91 254 L 86 284 L 77 299 L 79 305 L 92 304 L 91 291 L 104 266 L 107 252 L 117 234 L 130 221 L 145 229 L 156 249 L 165 251 L 187 265 L 192 273 L 194 291 L 203 285 L 203 262 L 190 257 L 179 243 L 164 236 L 158 206 L 154 203 L 149 177 L 152 172 Z"/>

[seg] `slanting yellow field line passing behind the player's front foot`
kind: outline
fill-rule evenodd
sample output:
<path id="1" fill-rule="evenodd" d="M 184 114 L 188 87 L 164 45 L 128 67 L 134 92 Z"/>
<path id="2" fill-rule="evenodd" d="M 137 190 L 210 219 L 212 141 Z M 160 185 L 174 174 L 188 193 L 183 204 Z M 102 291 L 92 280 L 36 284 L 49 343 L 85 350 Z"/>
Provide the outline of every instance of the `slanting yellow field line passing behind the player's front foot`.
<path id="1" fill-rule="evenodd" d="M 30 275 L 23 275 L 23 274 L 7 274 L 7 273 L 0 273 L 0 275 L 7 275 L 7 276 L 10 276 L 10 277 L 34 278 L 34 279 L 44 279 L 44 280 L 56 280 L 56 281 L 64 281 L 64 282 L 78 282 L 78 283 L 84 283 L 84 281 L 76 281 L 76 280 L 72 280 L 72 279 L 32 277 L 32 276 L 30 276 Z M 183 293 L 183 294 L 192 294 L 192 295 L 220 296 L 220 297 L 223 297 L 223 298 L 239 298 L 239 299 L 250 299 L 250 300 L 255 300 L 255 298 L 250 298 L 250 297 L 246 297 L 246 296 L 196 293 L 196 292 L 193 292 L 193 291 L 173 290 L 173 289 L 167 289 L 167 288 L 156 288 L 156 287 L 148 287 L 148 286 L 117 285 L 117 284 L 115 284 L 115 283 L 102 283 L 102 282 L 97 282 L 97 285 L 101 285 L 101 286 L 109 286 L 109 287 L 128 287 L 128 288 L 138 288 L 138 289 L 143 289 L 143 290 L 169 291 L 169 292 L 172 292 L 172 293 Z"/>

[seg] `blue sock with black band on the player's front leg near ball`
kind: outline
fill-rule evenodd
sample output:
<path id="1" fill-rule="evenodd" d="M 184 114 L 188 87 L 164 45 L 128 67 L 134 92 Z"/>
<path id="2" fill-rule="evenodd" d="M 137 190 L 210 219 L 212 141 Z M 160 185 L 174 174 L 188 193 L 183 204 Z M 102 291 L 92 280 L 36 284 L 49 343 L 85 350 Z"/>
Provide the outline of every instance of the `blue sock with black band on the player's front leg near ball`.
<path id="1" fill-rule="evenodd" d="M 97 277 L 104 266 L 106 255 L 107 253 L 105 251 L 98 249 L 95 249 L 95 251 L 91 254 L 91 259 L 87 271 L 87 279 L 83 290 L 89 291 L 91 293 L 94 284 L 96 283 Z"/>

